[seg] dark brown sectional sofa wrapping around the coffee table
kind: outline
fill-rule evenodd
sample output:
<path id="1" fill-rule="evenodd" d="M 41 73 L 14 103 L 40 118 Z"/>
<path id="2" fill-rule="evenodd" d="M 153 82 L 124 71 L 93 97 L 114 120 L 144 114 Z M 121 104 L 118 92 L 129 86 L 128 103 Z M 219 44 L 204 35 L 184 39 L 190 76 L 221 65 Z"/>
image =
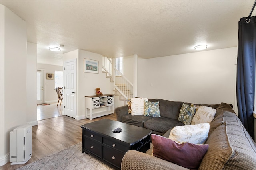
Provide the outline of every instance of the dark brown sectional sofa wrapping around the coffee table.
<path id="1" fill-rule="evenodd" d="M 159 101 L 161 117 L 132 116 L 128 107 L 115 109 L 117 121 L 153 130 L 153 133 L 169 137 L 175 126 L 184 125 L 178 121 L 183 102 L 163 99 Z M 190 105 L 190 103 L 186 103 Z M 221 103 L 204 105 L 216 109 L 216 115 L 210 123 L 206 144 L 209 145 L 199 170 L 256 170 L 256 144 L 236 116 L 231 104 Z M 151 148 L 152 150 L 152 148 Z M 122 170 L 183 170 L 182 166 L 156 158 L 147 153 L 129 150 L 122 160 Z"/>

